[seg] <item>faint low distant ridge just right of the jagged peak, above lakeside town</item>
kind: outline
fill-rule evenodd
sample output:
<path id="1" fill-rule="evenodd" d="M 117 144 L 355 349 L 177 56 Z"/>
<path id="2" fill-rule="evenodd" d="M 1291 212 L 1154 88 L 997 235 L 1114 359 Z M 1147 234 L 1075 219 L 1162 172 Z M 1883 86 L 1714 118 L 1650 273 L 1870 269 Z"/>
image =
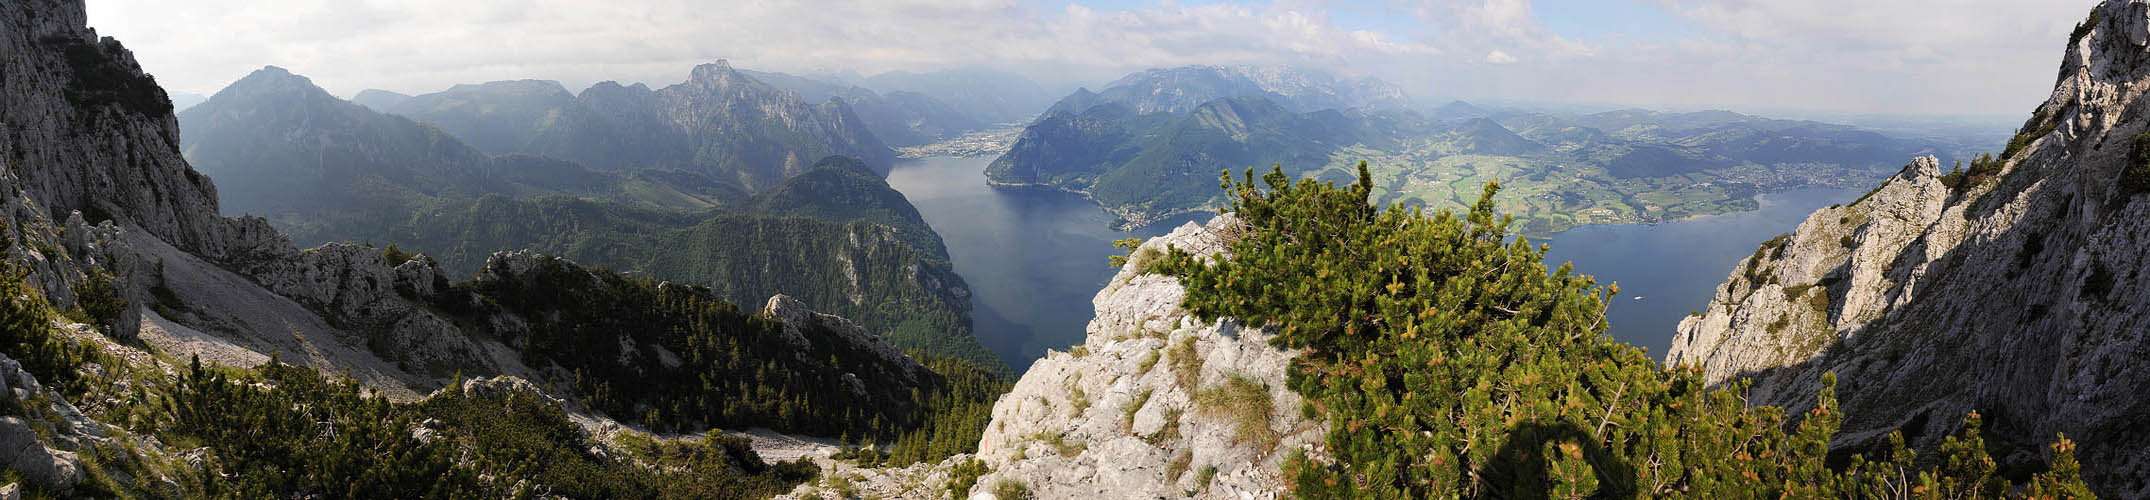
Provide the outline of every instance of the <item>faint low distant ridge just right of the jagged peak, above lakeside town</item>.
<path id="1" fill-rule="evenodd" d="M 858 114 L 858 120 L 882 137 L 888 146 L 918 146 L 933 144 L 940 139 L 957 137 L 968 131 L 978 131 L 989 124 L 957 112 L 948 103 L 920 92 L 873 92 L 862 86 L 847 86 L 838 82 L 798 77 L 787 73 L 761 73 L 761 71 L 740 71 L 770 86 L 791 90 L 808 103 L 821 103 L 830 99 L 843 99 Z"/>

